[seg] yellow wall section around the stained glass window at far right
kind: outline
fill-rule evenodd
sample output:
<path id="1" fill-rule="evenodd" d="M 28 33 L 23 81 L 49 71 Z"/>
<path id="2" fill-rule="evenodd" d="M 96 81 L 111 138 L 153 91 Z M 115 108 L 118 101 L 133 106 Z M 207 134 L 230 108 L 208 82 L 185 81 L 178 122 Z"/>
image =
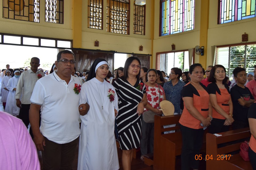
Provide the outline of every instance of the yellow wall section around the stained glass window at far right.
<path id="1" fill-rule="evenodd" d="M 256 41 L 256 18 L 218 24 L 218 1 L 210 0 L 207 65 L 212 65 L 211 46 L 242 42 L 242 34 L 248 34 L 248 42 Z"/>

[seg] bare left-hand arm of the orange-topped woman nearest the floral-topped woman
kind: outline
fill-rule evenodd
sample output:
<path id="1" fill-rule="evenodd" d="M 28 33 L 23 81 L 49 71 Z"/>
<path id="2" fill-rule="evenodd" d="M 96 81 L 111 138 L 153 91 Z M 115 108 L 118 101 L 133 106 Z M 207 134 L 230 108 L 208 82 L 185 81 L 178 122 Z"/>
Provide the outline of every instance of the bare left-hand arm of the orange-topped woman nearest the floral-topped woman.
<path id="1" fill-rule="evenodd" d="M 210 123 L 210 120 L 204 118 L 200 113 L 199 111 L 194 107 L 193 105 L 193 97 L 183 97 L 182 98 L 184 103 L 185 103 L 185 106 L 187 108 L 187 111 L 189 111 L 189 113 L 195 117 L 196 119 L 200 120 L 204 126 L 209 126 L 211 123 Z"/>

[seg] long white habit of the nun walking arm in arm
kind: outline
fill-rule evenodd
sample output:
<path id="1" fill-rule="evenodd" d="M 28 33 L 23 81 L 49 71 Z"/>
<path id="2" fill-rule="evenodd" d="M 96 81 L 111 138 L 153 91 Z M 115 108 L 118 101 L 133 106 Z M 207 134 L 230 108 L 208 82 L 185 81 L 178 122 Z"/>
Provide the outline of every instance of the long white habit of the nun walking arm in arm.
<path id="1" fill-rule="evenodd" d="M 115 99 L 111 103 L 107 97 L 109 89 L 115 91 L 110 83 L 105 80 L 100 82 L 96 78 L 82 85 L 79 104 L 87 102 L 90 110 L 86 115 L 80 116 L 82 124 L 78 170 L 119 169 L 114 136 L 114 108 L 118 111 L 118 98 L 115 92 Z"/>

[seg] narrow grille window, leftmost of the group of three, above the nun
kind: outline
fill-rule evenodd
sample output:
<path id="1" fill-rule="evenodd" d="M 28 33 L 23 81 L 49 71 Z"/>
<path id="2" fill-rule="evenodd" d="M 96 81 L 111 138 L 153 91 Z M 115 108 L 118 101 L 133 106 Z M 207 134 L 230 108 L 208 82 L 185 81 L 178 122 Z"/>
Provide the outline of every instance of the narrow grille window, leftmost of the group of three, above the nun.
<path id="1" fill-rule="evenodd" d="M 102 29 L 102 0 L 88 1 L 88 28 Z"/>

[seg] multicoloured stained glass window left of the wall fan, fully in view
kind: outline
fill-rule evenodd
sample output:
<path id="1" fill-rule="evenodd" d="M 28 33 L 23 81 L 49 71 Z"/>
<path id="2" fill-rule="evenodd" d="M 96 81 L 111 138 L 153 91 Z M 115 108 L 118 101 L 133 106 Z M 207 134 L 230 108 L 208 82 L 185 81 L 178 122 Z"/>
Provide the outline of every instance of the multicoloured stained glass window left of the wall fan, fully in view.
<path id="1" fill-rule="evenodd" d="M 161 0 L 159 36 L 194 29 L 194 0 Z"/>

